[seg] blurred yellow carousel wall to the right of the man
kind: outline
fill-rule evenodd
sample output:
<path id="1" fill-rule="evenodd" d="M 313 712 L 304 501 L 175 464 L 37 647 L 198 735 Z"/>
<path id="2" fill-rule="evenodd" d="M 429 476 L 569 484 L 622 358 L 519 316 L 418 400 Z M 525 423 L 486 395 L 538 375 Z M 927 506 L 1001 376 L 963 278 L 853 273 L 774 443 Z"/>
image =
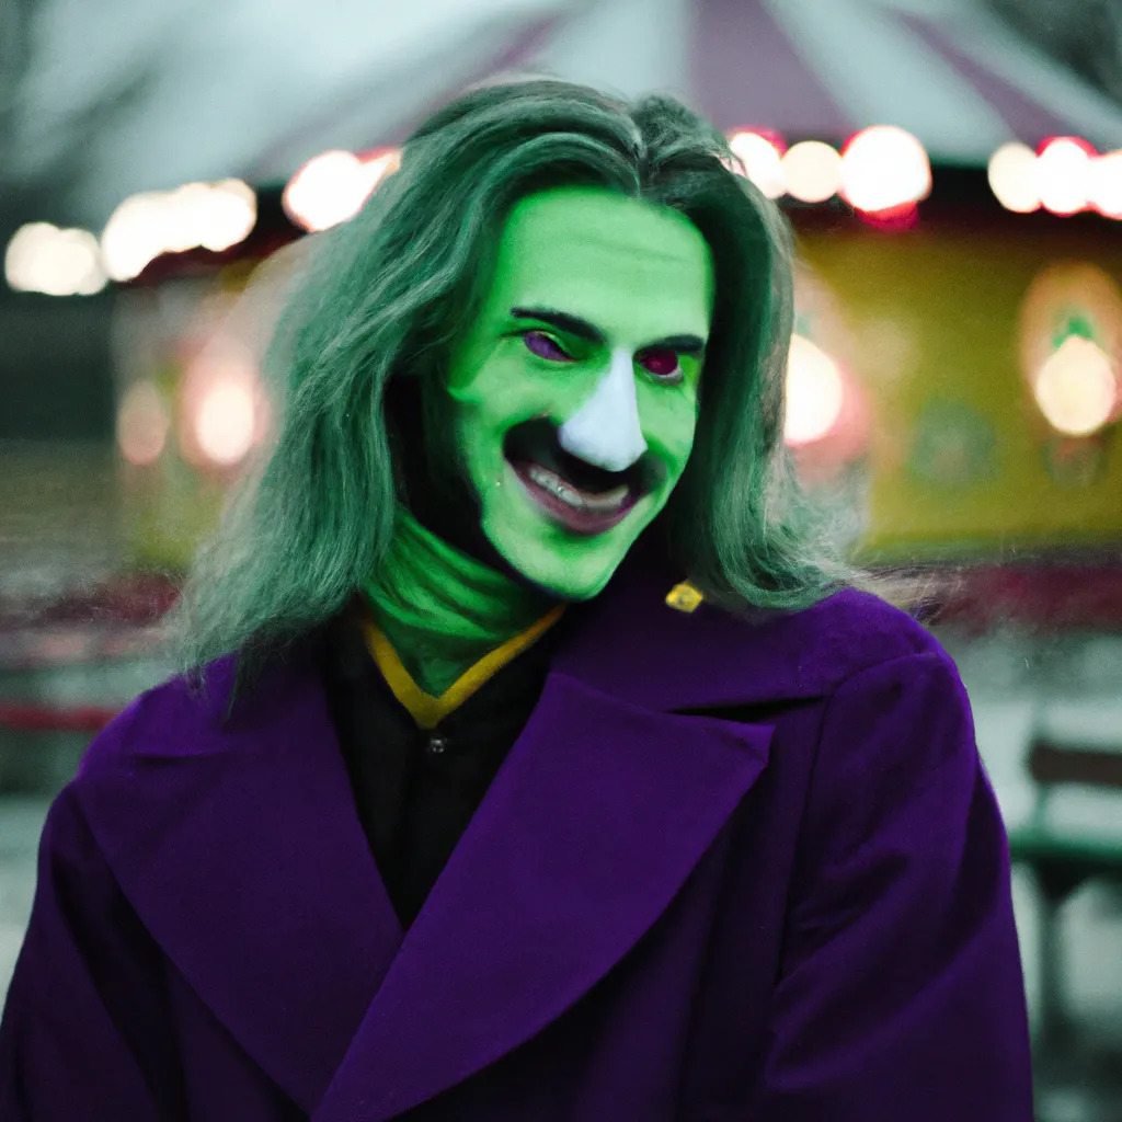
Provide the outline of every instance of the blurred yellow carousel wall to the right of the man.
<path id="1" fill-rule="evenodd" d="M 1023 234 L 1010 232 L 1015 226 L 942 227 L 801 239 L 804 260 L 837 295 L 849 335 L 845 358 L 870 397 L 872 554 L 923 559 L 1122 541 L 1122 453 L 1107 433 L 1070 449 L 1093 466 L 1089 481 L 1049 471 L 1056 434 L 1021 374 L 1019 327 L 1026 293 L 1049 265 L 1091 261 L 1122 279 L 1122 227 L 1030 222 Z M 951 430 L 949 444 L 946 433 L 941 444 L 935 440 L 951 468 L 956 439 L 983 449 L 973 462 L 967 457 L 969 470 L 942 478 L 917 470 L 917 440 L 929 449 L 932 441 L 931 425 L 920 434 L 925 413 Z M 956 426 L 964 430 L 957 438 Z"/>

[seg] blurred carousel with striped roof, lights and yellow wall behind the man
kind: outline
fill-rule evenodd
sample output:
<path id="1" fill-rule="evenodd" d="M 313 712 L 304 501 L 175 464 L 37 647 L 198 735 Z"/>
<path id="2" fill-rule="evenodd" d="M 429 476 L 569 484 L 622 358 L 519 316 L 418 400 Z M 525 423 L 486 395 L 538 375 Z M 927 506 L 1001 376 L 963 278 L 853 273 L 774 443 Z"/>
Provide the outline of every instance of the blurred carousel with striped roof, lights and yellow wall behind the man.
<path id="1" fill-rule="evenodd" d="M 628 49 L 640 15 L 634 0 L 482 3 L 417 40 L 406 19 L 415 81 L 396 54 L 360 89 L 337 75 L 314 111 L 283 131 L 274 114 L 226 164 L 242 180 L 119 202 L 100 250 L 119 286 L 130 562 L 181 565 L 266 439 L 274 252 L 346 222 L 416 120 L 508 71 L 677 92 L 788 210 L 787 438 L 808 482 L 856 500 L 864 560 L 1122 539 L 1122 108 L 968 2 L 653 0 Z M 467 45 L 454 59 L 452 42 Z"/>

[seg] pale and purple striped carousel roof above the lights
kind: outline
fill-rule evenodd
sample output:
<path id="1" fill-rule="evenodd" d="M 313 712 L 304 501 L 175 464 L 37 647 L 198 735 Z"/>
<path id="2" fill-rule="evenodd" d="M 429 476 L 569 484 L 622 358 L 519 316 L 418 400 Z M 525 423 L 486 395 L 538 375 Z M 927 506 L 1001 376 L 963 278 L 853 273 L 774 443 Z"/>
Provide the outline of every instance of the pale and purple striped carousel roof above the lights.
<path id="1" fill-rule="evenodd" d="M 512 68 L 675 93 L 721 128 L 792 139 L 896 125 L 949 163 L 982 165 L 1013 138 L 1122 148 L 1122 107 L 982 0 L 54 0 L 15 172 L 49 174 L 80 145 L 70 217 L 96 226 L 139 190 L 279 182 L 324 149 L 394 144 Z"/>

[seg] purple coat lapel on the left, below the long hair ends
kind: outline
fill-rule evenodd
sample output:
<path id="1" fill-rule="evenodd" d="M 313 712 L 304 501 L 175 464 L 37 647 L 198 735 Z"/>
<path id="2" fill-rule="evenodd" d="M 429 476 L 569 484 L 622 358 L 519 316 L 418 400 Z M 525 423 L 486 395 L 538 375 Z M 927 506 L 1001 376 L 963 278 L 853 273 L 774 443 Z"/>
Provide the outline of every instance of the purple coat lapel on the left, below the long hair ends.
<path id="1" fill-rule="evenodd" d="M 402 930 L 310 660 L 270 672 L 229 720 L 223 675 L 205 703 L 178 682 L 142 698 L 77 790 L 145 926 L 310 1114 Z"/>

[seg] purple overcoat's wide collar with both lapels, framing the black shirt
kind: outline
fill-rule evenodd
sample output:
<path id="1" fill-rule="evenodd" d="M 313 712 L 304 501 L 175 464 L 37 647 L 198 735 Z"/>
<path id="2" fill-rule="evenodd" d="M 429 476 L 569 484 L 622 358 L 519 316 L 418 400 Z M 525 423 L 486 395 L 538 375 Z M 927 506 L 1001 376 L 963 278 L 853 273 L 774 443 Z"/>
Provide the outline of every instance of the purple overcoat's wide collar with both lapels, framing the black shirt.
<path id="1" fill-rule="evenodd" d="M 229 719 L 222 664 L 206 702 L 172 682 L 99 742 L 79 790 L 123 891 L 316 1122 L 389 1119 L 559 1017 L 655 922 L 764 770 L 769 726 L 670 710 L 774 698 L 791 652 L 753 661 L 743 624 L 665 607 L 671 583 L 636 580 L 572 614 L 537 708 L 404 937 L 313 644 Z"/>

